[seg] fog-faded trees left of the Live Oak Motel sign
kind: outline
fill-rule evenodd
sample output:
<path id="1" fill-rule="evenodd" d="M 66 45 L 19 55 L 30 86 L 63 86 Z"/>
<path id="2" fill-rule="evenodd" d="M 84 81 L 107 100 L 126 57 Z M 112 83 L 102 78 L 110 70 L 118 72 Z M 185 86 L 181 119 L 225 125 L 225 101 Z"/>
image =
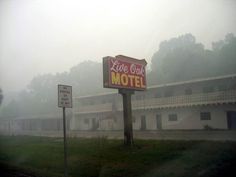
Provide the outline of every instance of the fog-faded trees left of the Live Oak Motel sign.
<path id="1" fill-rule="evenodd" d="M 57 85 L 73 86 L 73 96 L 104 92 L 102 87 L 102 66 L 86 61 L 70 71 L 39 75 L 29 83 L 28 89 L 18 94 L 8 105 L 3 106 L 0 117 L 18 117 L 43 114 L 57 114 Z"/>

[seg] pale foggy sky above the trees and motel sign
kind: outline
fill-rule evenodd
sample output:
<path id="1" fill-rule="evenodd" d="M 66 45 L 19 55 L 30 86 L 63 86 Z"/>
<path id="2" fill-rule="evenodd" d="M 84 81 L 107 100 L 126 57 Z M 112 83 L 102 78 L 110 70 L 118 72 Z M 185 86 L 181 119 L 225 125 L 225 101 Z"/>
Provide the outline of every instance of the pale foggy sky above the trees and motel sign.
<path id="1" fill-rule="evenodd" d="M 159 43 L 192 33 L 206 48 L 236 34 L 234 0 L 0 0 L 0 87 L 124 54 L 149 63 Z"/>

